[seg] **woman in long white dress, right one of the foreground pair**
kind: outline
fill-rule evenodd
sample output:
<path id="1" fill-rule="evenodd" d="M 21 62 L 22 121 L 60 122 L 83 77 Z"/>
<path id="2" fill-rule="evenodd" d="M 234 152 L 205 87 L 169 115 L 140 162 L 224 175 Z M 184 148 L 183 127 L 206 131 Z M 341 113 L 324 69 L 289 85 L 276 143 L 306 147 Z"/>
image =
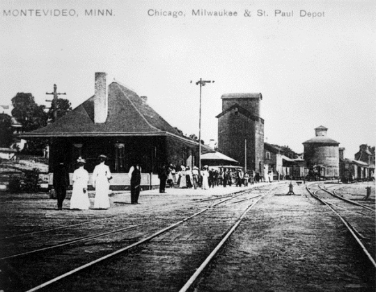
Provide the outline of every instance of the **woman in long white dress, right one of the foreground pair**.
<path id="1" fill-rule="evenodd" d="M 95 166 L 93 171 L 93 187 L 95 188 L 94 208 L 109 209 L 109 180 L 112 177 L 109 167 L 104 164 L 107 156 L 100 155 L 99 159 L 100 164 Z"/>

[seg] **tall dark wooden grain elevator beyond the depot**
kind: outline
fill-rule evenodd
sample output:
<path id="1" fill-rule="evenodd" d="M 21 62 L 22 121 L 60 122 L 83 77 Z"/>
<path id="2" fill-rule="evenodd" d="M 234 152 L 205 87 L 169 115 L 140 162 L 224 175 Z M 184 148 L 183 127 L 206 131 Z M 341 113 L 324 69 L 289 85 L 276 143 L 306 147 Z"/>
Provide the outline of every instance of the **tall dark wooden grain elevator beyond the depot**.
<path id="1" fill-rule="evenodd" d="M 263 174 L 264 120 L 261 93 L 224 94 L 218 118 L 218 151 L 239 161 L 247 170 Z"/>

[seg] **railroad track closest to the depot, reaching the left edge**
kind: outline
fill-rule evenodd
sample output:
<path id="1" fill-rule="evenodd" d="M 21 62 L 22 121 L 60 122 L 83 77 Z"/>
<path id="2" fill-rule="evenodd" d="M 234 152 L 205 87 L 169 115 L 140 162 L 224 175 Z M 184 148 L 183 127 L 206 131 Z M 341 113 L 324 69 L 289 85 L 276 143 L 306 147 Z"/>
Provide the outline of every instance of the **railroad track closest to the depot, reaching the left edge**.
<path id="1" fill-rule="evenodd" d="M 258 188 L 260 187 L 253 188 L 253 191 L 258 190 Z M 235 191 L 229 195 L 219 195 L 217 197 L 212 197 L 205 200 L 192 200 L 191 202 L 183 203 L 175 202 L 173 204 L 143 209 L 141 211 L 134 211 L 132 213 L 120 213 L 117 216 L 104 216 L 103 218 L 97 218 L 95 220 L 84 220 L 84 222 L 75 222 L 74 224 L 42 229 L 35 232 L 26 232 L 23 234 L 6 236 L 0 238 L 0 243 L 4 247 L 1 250 L 2 254 L 0 255 L 0 260 L 11 259 L 36 252 L 44 252 L 46 250 L 61 248 L 65 245 L 70 245 L 73 243 L 84 243 L 93 240 L 93 238 L 106 236 L 109 233 L 122 232 L 126 229 L 141 226 L 139 224 L 141 219 L 148 220 L 148 222 L 143 222 L 143 225 L 148 225 L 155 222 L 155 220 L 149 219 L 150 214 L 153 214 L 155 211 L 166 211 L 166 209 L 171 209 L 171 206 L 180 209 L 186 207 L 187 210 L 190 210 L 191 205 L 194 206 L 197 205 L 197 203 L 222 200 L 228 197 L 237 197 L 247 192 L 248 191 Z M 114 204 L 123 204 L 123 202 L 115 201 Z M 164 218 L 164 220 L 166 220 L 166 218 Z M 125 227 L 123 226 L 124 222 L 127 222 Z M 116 227 L 123 227 L 108 230 L 107 226 L 110 224 L 115 225 Z M 98 233 L 98 231 L 102 232 Z M 93 234 L 93 232 L 95 232 L 95 234 Z M 64 238 L 63 241 L 61 241 L 62 237 Z M 24 251 L 25 248 L 33 249 Z"/>

